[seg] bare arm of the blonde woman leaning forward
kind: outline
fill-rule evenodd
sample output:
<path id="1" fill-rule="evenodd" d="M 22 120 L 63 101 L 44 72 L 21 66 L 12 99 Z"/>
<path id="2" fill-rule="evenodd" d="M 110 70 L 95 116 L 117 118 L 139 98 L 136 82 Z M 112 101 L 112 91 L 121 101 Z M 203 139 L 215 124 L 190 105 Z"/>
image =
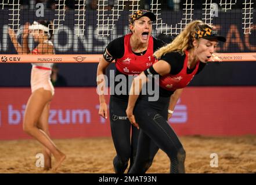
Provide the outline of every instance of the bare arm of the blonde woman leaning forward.
<path id="1" fill-rule="evenodd" d="M 160 60 L 155 64 L 153 64 L 153 69 L 160 76 L 164 76 L 170 73 L 171 65 L 168 64 L 168 62 L 166 61 Z M 147 70 L 150 70 L 150 68 Z M 136 120 L 134 117 L 134 106 L 142 90 L 142 87 L 146 82 L 147 82 L 147 76 L 145 75 L 144 72 L 140 73 L 140 75 L 135 77 L 134 80 L 132 81 L 131 90 L 129 92 L 129 101 L 128 101 L 126 113 L 131 124 L 133 124 L 138 129 L 139 129 L 139 125 L 138 123 L 136 123 Z"/>

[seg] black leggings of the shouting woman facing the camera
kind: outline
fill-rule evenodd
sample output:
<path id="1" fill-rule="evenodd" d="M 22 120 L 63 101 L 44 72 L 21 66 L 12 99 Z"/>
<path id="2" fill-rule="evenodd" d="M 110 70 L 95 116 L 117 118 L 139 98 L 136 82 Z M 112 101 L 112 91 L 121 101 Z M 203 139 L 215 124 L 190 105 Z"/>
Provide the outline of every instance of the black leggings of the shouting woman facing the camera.
<path id="1" fill-rule="evenodd" d="M 131 125 L 125 110 L 128 99 L 110 96 L 110 127 L 111 135 L 116 148 L 117 156 L 114 157 L 113 165 L 116 173 L 124 173 L 130 159 L 130 166 L 134 164 L 138 146 L 139 129 Z M 132 137 L 131 137 L 132 128 Z M 145 171 L 151 166 L 154 156 L 158 151 L 156 145 L 149 147 L 148 156 L 145 159 Z"/>

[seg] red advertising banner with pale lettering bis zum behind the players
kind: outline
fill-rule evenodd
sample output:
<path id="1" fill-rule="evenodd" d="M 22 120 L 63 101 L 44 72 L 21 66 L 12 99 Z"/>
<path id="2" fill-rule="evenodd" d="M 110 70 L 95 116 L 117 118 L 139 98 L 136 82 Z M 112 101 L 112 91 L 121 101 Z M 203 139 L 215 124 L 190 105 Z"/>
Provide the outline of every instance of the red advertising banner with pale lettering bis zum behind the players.
<path id="1" fill-rule="evenodd" d="M 0 88 L 0 139 L 30 138 L 22 123 L 30 88 Z M 109 103 L 109 95 L 106 95 Z M 256 134 L 256 87 L 188 87 L 169 123 L 178 135 Z M 51 102 L 52 138 L 111 136 L 98 114 L 96 88 L 56 88 Z"/>

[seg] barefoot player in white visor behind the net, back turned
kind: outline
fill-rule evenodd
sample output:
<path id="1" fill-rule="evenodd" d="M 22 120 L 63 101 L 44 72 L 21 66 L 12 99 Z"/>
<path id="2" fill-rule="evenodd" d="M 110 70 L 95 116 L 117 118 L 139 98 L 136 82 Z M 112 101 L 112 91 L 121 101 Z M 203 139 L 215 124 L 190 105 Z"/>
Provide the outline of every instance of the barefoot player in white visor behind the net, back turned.
<path id="1" fill-rule="evenodd" d="M 9 28 L 10 39 L 18 54 L 55 54 L 51 42 L 52 30 L 50 21 L 34 21 L 32 25 L 26 23 L 23 29 L 23 44 L 17 41 L 15 32 Z M 28 35 L 33 34 L 37 47 L 30 52 L 28 49 Z M 23 120 L 23 130 L 33 136 L 44 146 L 44 169 L 49 170 L 51 154 L 55 157 L 56 170 L 66 156 L 55 146 L 49 138 L 48 117 L 50 103 L 53 98 L 54 88 L 51 83 L 52 63 L 31 63 L 31 95 L 28 99 Z"/>

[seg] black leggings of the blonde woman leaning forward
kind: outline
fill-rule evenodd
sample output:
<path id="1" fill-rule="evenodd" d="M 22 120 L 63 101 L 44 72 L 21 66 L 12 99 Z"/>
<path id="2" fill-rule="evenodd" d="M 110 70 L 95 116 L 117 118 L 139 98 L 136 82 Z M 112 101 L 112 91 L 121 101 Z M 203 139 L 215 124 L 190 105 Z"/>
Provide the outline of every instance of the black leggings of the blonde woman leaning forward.
<path id="1" fill-rule="evenodd" d="M 171 173 L 185 173 L 185 150 L 167 122 L 169 101 L 170 97 L 160 97 L 156 102 L 148 102 L 146 95 L 138 99 L 134 109 L 135 120 L 140 127 L 138 151 L 129 173 L 146 172 L 145 159 L 149 158 L 152 143 L 155 143 L 170 158 Z"/>

